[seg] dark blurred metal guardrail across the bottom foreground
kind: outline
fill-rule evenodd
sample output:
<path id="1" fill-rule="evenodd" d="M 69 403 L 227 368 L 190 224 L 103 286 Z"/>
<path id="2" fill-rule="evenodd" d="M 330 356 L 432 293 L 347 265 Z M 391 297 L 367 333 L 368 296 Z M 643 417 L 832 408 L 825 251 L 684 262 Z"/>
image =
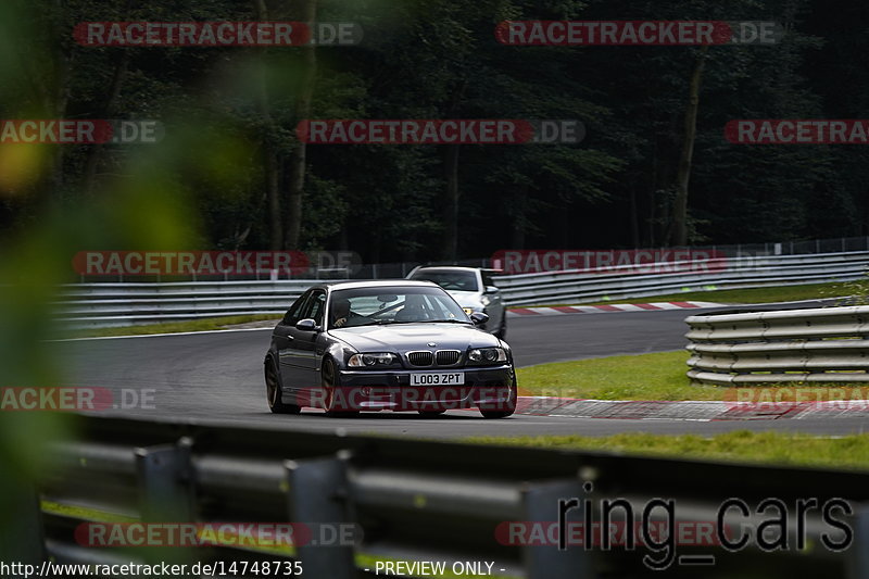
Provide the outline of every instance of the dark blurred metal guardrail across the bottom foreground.
<path id="1" fill-rule="evenodd" d="M 578 499 L 591 508 L 588 515 L 571 511 L 567 521 L 584 516 L 594 523 L 601 520 L 605 500 L 622 500 L 626 506 L 613 520 L 621 513 L 634 521 L 650 501 L 663 499 L 675 501 L 678 525 L 717 521 L 721 528 L 744 531 L 747 526 L 759 533 L 761 515 L 768 513 L 758 505 L 774 496 L 788 508 L 803 499 L 818 501 L 807 515 L 788 515 L 803 519 L 790 519 L 788 549 L 763 552 L 753 546 L 754 536 L 739 553 L 680 540 L 673 545 L 679 555 L 675 566 L 688 565 L 682 555 L 704 554 L 714 557 L 715 567 L 685 566 L 677 576 L 713 569 L 717 577 L 856 579 L 869 574 L 869 512 L 864 506 L 869 473 L 121 418 L 77 420 L 76 440 L 56 441 L 46 451 L 46 464 L 52 466 L 38 483 L 41 525 L 35 524 L 35 513 L 20 512 L 14 540 L 0 544 L 0 559 L 22 561 L 25 553 L 34 562 L 50 556 L 61 564 L 286 559 L 301 561 L 303 577 L 315 579 L 374 577 L 376 561 L 487 561 L 494 564 L 492 575 L 502 578 L 660 577 L 642 563 L 647 543 L 637 550 L 571 543 L 559 551 L 541 544 L 552 539 L 540 537 L 528 544 L 502 544 L 498 529 L 506 521 L 553 524 L 561 499 Z M 20 504 L 34 504 L 33 494 L 26 494 Z M 731 498 L 752 505 L 752 513 L 725 509 L 719 521 L 721 505 Z M 854 533 L 851 546 L 839 552 L 820 541 L 821 533 L 833 537 L 835 529 L 824 526 L 817 507 L 833 498 L 847 501 L 852 509 L 851 516 L 835 515 Z M 626 515 L 627 506 L 632 514 Z M 156 552 L 80 543 L 79 525 L 116 520 L 117 514 L 144 523 L 349 524 L 361 532 L 353 542 L 298 544 L 282 554 L 231 542 Z M 807 546 L 795 546 L 795 529 L 805 531 Z"/>

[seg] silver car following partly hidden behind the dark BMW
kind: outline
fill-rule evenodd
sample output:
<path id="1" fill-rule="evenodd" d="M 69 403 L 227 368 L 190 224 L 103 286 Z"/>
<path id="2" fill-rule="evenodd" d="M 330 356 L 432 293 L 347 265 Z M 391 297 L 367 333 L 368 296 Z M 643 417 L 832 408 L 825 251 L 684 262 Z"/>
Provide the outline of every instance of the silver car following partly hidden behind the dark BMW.
<path id="1" fill-rule="evenodd" d="M 433 281 L 446 290 L 468 315 L 481 312 L 489 316 L 482 329 L 499 338 L 507 335 L 507 311 L 501 291 L 492 281 L 494 269 L 457 266 L 419 266 L 407 279 Z"/>

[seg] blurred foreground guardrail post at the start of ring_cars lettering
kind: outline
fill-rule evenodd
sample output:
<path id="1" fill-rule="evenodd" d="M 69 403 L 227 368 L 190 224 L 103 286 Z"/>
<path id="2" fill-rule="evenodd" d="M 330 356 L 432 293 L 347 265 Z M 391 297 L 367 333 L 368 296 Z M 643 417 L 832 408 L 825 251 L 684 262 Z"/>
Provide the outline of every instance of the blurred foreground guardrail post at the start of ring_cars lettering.
<path id="1" fill-rule="evenodd" d="M 543 525 L 558 524 L 558 501 L 561 499 L 588 498 L 578 480 L 533 483 L 522 490 L 522 509 L 525 520 Z M 580 520 L 580 508 L 566 514 L 566 523 Z M 587 529 L 583 529 L 588 532 Z M 565 529 L 565 532 L 567 530 Z M 546 533 L 549 536 L 549 533 Z M 570 533 L 566 534 L 568 538 Z M 557 544 L 526 545 L 522 562 L 529 579 L 590 579 L 594 577 L 590 553 L 583 545 L 567 545 L 559 551 Z"/>

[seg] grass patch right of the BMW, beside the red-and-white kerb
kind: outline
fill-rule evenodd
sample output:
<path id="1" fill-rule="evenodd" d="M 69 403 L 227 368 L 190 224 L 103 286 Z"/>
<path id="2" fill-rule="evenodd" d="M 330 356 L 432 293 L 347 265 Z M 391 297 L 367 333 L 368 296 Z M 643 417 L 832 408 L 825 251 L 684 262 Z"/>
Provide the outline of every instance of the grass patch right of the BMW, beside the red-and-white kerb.
<path id="1" fill-rule="evenodd" d="M 691 386 L 688 352 L 595 357 L 519 368 L 520 395 L 596 400 L 723 400 L 728 388 Z"/>

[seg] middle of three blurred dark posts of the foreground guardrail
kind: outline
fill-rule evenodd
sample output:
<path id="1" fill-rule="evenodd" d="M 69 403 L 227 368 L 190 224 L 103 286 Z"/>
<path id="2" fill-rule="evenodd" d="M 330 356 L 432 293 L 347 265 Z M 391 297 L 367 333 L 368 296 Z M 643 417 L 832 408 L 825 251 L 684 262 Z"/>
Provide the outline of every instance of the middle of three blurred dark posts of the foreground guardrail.
<path id="1" fill-rule="evenodd" d="M 322 536 L 327 525 L 354 523 L 347 477 L 350 456 L 350 452 L 341 451 L 330 458 L 284 463 L 290 521 L 307 525 L 313 532 L 310 542 L 295 545 L 305 577 L 356 577 L 354 545 L 342 544 L 341 540 L 338 544 L 323 544 Z"/>

